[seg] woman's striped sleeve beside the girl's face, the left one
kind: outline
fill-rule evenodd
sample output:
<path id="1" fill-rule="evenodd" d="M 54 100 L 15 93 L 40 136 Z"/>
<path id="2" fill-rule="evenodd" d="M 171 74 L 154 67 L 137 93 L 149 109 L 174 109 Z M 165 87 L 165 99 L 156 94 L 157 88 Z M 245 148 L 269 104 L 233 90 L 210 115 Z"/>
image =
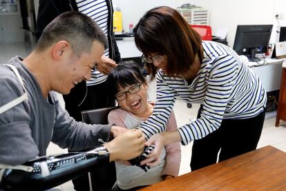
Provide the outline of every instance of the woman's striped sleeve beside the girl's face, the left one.
<path id="1" fill-rule="evenodd" d="M 157 92 L 153 114 L 147 121 L 144 121 L 140 125 L 146 139 L 152 137 L 153 134 L 166 130 L 166 123 L 173 110 L 173 105 L 177 96 L 175 90 L 171 89 L 166 81 L 164 81 L 161 72 L 158 72 L 156 79 Z"/>

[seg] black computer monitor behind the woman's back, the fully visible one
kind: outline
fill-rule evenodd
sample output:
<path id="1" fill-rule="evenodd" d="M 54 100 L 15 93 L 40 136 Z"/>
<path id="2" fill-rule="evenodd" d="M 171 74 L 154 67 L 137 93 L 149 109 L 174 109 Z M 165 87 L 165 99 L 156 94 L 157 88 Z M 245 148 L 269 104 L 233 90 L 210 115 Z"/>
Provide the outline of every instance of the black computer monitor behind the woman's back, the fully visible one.
<path id="1" fill-rule="evenodd" d="M 249 61 L 260 61 L 257 53 L 265 53 L 269 44 L 272 25 L 238 26 L 233 50 L 239 55 L 246 55 Z"/>

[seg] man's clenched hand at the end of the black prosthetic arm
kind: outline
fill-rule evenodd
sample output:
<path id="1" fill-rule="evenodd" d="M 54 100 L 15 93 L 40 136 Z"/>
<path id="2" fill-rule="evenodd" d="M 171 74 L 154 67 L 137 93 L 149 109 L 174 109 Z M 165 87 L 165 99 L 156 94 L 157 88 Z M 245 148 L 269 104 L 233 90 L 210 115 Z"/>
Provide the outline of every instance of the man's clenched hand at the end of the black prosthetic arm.
<path id="1" fill-rule="evenodd" d="M 139 156 L 143 152 L 144 140 L 142 131 L 138 129 L 119 134 L 115 139 L 104 144 L 110 153 L 109 161 L 128 161 Z"/>

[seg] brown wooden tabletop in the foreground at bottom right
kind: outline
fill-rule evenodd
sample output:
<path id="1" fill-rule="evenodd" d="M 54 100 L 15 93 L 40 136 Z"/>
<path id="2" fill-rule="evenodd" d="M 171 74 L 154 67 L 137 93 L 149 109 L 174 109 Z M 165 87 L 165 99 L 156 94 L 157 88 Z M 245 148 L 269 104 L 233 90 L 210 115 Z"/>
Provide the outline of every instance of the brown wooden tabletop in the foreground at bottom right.
<path id="1" fill-rule="evenodd" d="M 142 189 L 148 190 L 286 190 L 286 152 L 268 145 Z"/>

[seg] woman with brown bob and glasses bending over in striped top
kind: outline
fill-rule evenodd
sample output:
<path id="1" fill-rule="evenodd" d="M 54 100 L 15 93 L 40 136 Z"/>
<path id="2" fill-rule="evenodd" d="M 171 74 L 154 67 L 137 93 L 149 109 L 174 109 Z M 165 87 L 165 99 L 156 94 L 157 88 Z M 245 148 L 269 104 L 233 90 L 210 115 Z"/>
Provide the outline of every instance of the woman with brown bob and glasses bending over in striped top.
<path id="1" fill-rule="evenodd" d="M 219 150 L 222 161 L 256 149 L 267 97 L 244 59 L 228 46 L 201 41 L 173 8 L 149 10 L 134 31 L 153 78 L 158 70 L 154 112 L 140 125 L 147 138 L 155 134 L 147 142 L 155 149 L 142 164 L 156 163 L 162 146 L 175 141 L 193 141 L 191 170 L 216 163 Z M 176 97 L 200 103 L 198 119 L 164 132 Z"/>

